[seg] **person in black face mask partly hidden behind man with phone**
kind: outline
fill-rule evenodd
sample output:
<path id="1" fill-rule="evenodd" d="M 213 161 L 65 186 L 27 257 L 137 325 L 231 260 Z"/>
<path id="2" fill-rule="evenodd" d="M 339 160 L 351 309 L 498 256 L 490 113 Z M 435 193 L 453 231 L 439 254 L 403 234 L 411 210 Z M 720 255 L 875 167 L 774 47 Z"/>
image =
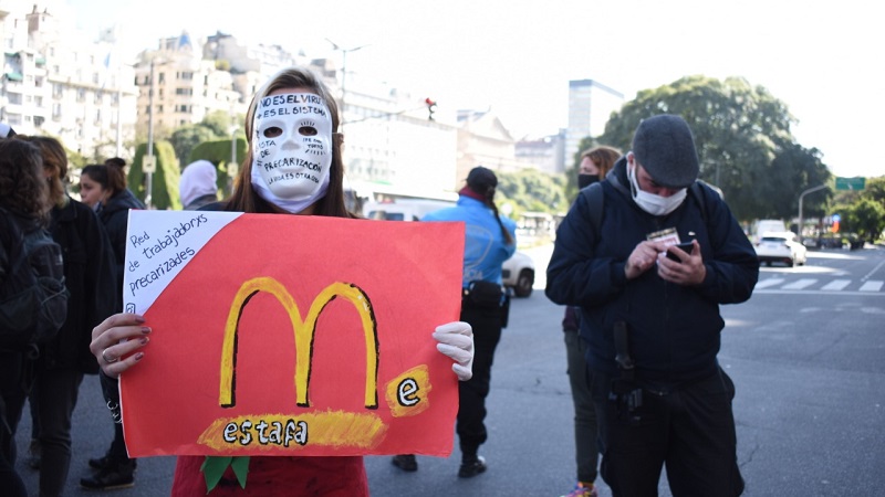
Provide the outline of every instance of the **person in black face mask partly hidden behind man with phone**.
<path id="1" fill-rule="evenodd" d="M 621 157 L 621 151 L 612 147 L 595 147 L 581 154 L 577 169 L 577 189 L 582 190 L 605 178 Z M 596 440 L 596 408 L 590 391 L 592 371 L 587 368 L 586 341 L 579 335 L 580 309 L 565 306 L 562 330 L 565 339 L 565 359 L 568 361 L 569 384 L 572 388 L 574 402 L 574 458 L 577 465 L 577 483 L 564 497 L 595 497 L 598 493 L 596 465 L 598 447 Z"/>

